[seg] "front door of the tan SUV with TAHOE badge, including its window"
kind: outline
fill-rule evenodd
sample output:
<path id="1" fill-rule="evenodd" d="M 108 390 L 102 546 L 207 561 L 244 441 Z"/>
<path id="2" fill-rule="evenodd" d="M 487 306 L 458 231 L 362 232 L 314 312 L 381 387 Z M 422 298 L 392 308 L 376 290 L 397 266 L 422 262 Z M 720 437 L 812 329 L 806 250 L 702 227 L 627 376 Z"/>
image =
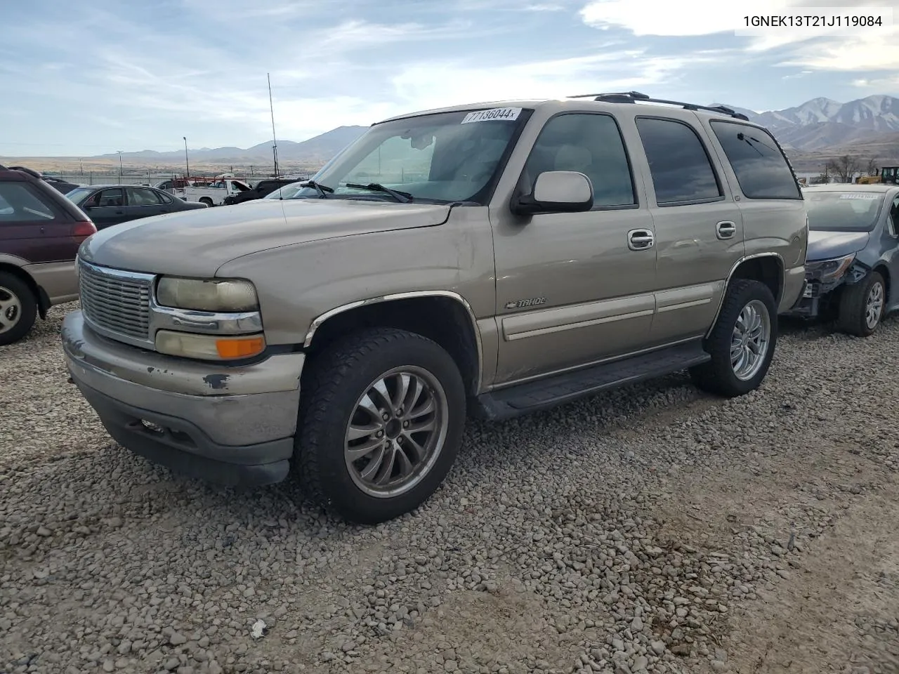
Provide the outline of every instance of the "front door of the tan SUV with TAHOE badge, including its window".
<path id="1" fill-rule="evenodd" d="M 494 222 L 496 384 L 511 384 L 645 348 L 655 309 L 653 218 L 636 185 L 618 121 L 565 112 L 547 121 L 521 177 L 577 171 L 593 208 Z"/>

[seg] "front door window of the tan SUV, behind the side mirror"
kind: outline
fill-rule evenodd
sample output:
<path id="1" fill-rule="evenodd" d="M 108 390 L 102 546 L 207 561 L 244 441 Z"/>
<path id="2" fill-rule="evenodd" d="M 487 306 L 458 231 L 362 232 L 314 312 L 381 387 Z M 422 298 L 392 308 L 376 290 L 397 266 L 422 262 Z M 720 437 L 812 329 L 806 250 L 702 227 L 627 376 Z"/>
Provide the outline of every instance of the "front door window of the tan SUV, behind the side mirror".
<path id="1" fill-rule="evenodd" d="M 593 183 L 594 208 L 636 203 L 624 141 L 610 115 L 562 114 L 547 121 L 524 167 L 526 189 L 545 171 L 584 173 Z"/>

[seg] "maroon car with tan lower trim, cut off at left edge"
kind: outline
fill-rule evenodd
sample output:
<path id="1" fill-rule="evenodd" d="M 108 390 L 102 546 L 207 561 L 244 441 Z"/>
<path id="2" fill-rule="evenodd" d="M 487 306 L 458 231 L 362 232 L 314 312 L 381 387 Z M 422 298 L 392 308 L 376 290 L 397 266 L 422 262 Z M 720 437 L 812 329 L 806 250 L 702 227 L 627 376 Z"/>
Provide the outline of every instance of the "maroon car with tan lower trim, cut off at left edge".
<path id="1" fill-rule="evenodd" d="M 49 183 L 0 165 L 0 346 L 78 298 L 78 246 L 97 228 Z"/>

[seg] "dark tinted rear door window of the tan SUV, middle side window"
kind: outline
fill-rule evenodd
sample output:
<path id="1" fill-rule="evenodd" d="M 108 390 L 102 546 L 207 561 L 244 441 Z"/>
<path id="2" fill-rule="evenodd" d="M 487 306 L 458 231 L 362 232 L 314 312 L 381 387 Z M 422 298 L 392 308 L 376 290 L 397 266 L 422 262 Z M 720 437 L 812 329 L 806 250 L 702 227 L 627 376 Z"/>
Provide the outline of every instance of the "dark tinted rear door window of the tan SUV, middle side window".
<path id="1" fill-rule="evenodd" d="M 655 201 L 671 204 L 721 197 L 715 171 L 696 131 L 675 120 L 636 120 L 649 160 Z"/>

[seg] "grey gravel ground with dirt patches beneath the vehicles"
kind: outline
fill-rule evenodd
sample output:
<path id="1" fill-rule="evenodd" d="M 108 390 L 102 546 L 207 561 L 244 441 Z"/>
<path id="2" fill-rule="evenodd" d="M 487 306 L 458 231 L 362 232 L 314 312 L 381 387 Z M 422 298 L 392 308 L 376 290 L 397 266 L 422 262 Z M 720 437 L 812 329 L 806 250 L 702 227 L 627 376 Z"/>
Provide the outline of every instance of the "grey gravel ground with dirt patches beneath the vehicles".
<path id="1" fill-rule="evenodd" d="M 71 308 L 0 348 L 0 672 L 899 671 L 899 321 L 785 327 L 737 400 L 472 423 L 431 501 L 356 528 L 116 446 Z"/>

